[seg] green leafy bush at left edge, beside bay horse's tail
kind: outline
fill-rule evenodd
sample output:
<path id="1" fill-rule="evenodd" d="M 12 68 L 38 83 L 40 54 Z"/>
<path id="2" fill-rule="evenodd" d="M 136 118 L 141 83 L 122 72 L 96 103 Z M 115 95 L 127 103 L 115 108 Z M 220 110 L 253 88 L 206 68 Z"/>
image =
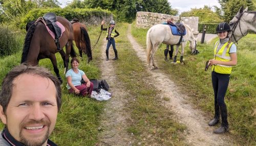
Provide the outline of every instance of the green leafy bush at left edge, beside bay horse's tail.
<path id="1" fill-rule="evenodd" d="M 0 26 L 0 56 L 7 56 L 22 49 L 22 41 L 10 28 Z"/>

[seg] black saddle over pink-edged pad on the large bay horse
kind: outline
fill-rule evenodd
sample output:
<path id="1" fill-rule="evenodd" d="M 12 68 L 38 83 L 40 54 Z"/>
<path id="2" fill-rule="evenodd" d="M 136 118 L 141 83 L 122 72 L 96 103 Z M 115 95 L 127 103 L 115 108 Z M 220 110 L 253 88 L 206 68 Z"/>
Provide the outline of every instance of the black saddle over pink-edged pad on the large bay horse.
<path id="1" fill-rule="evenodd" d="M 60 50 L 59 46 L 59 38 L 61 36 L 61 29 L 56 25 L 56 15 L 54 13 L 46 13 L 42 18 L 45 19 L 48 28 L 55 34 L 55 44 L 57 46 L 57 50 Z"/>

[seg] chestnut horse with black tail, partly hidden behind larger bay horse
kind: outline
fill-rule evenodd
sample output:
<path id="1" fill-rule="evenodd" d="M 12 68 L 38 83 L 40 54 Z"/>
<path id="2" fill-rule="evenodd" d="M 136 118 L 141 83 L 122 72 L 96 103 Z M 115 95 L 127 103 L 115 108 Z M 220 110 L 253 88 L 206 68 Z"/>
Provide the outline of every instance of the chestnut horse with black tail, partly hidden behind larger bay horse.
<path id="1" fill-rule="evenodd" d="M 87 54 L 88 63 L 92 60 L 92 49 L 91 49 L 91 41 L 87 32 L 86 25 L 83 25 L 78 20 L 74 19 L 71 21 L 73 30 L 74 30 L 74 41 L 76 43 L 76 47 L 78 48 L 80 57 L 82 57 L 82 52 Z"/>

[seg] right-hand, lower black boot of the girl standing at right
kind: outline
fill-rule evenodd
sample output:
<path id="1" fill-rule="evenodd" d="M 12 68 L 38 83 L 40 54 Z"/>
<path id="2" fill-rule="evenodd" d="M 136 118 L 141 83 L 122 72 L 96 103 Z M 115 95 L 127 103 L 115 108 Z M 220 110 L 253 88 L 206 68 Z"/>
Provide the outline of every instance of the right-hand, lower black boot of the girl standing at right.
<path id="1" fill-rule="evenodd" d="M 221 127 L 214 131 L 215 134 L 223 134 L 228 131 L 227 107 L 220 106 L 221 109 Z"/>

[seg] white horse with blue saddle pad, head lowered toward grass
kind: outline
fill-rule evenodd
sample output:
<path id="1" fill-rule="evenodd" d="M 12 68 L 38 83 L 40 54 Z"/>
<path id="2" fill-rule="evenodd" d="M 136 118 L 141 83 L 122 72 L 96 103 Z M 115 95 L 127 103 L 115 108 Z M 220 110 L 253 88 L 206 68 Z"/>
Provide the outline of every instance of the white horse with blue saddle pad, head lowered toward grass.
<path id="1" fill-rule="evenodd" d="M 180 62 L 182 64 L 183 64 L 184 47 L 186 46 L 187 41 L 190 42 L 189 48 L 191 50 L 191 54 L 199 53 L 197 51 L 197 41 L 196 41 L 196 38 L 194 37 L 193 31 L 187 25 L 185 24 L 183 25 L 185 26 L 186 34 L 183 35 L 181 42 L 180 42 L 181 36 L 173 35 L 168 25 L 155 25 L 147 31 L 147 34 L 146 34 L 147 63 L 148 63 L 148 66 L 150 67 L 150 70 L 157 68 L 157 65 L 153 57 L 157 51 L 157 48 L 161 43 L 176 45 L 174 63 L 176 63 L 176 58 L 179 51 L 179 45 L 178 45 L 179 42 L 181 45 Z"/>

